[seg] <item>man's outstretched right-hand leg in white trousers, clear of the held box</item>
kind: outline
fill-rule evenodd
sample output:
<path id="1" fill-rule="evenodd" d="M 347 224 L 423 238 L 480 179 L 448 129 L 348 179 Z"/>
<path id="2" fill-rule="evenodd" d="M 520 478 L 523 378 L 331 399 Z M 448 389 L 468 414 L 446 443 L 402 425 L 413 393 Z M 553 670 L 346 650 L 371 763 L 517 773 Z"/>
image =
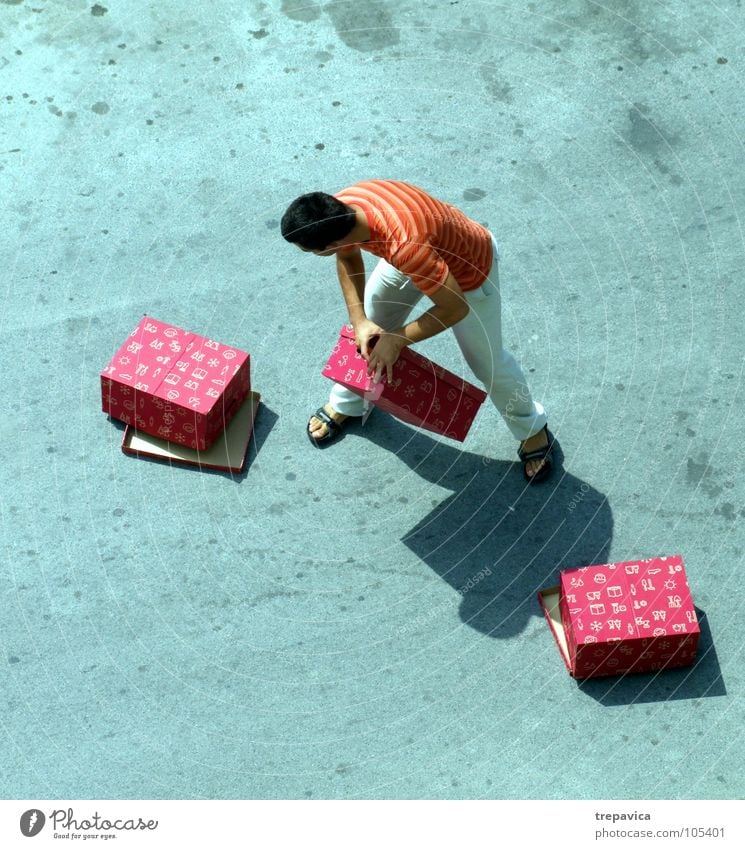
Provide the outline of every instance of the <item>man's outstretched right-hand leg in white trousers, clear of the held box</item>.
<path id="1" fill-rule="evenodd" d="M 474 292 L 466 292 L 470 312 L 453 327 L 463 356 L 471 371 L 484 384 L 515 438 L 526 451 L 548 443 L 543 427 L 547 422 L 543 407 L 530 394 L 522 369 L 502 346 L 502 305 L 496 244 L 489 279 Z M 528 474 L 543 465 L 531 461 Z"/>

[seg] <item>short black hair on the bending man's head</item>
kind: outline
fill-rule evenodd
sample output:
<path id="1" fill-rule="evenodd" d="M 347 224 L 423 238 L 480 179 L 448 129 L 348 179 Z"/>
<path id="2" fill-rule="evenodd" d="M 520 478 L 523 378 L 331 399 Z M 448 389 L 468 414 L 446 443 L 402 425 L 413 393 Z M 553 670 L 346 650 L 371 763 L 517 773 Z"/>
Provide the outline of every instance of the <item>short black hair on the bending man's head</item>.
<path id="1" fill-rule="evenodd" d="M 284 238 L 311 251 L 322 251 L 354 229 L 356 213 L 325 192 L 301 195 L 282 216 Z"/>

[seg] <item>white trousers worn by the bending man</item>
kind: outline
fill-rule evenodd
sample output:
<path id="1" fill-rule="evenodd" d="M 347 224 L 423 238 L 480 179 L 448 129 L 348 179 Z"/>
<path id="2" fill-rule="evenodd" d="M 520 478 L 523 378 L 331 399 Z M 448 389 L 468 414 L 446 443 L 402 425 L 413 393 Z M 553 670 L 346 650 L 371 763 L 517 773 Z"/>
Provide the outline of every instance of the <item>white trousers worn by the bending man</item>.
<path id="1" fill-rule="evenodd" d="M 538 433 L 546 424 L 543 407 L 533 401 L 525 375 L 515 358 L 502 347 L 502 303 L 499 294 L 497 243 L 492 236 L 494 261 L 483 285 L 465 292 L 469 313 L 452 327 L 455 338 L 476 378 L 483 384 L 507 427 L 519 440 Z M 365 314 L 384 330 L 395 330 L 406 320 L 423 293 L 402 272 L 380 260 L 365 285 Z M 347 416 L 361 416 L 365 401 L 335 383 L 331 408 Z"/>

